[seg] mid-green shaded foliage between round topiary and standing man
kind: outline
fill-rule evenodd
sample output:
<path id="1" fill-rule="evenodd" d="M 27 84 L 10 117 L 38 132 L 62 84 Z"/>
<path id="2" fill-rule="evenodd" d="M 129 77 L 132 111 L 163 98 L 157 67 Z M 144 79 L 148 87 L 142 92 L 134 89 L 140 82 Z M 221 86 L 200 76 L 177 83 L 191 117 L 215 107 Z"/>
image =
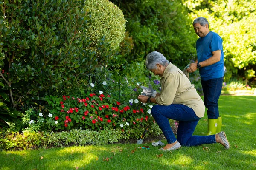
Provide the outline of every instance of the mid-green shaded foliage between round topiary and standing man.
<path id="1" fill-rule="evenodd" d="M 196 35 L 180 0 L 111 1 L 122 9 L 128 21 L 126 30 L 134 41 L 128 62 L 145 58 L 151 51 L 159 51 L 183 67 L 189 59 L 195 59 Z"/>

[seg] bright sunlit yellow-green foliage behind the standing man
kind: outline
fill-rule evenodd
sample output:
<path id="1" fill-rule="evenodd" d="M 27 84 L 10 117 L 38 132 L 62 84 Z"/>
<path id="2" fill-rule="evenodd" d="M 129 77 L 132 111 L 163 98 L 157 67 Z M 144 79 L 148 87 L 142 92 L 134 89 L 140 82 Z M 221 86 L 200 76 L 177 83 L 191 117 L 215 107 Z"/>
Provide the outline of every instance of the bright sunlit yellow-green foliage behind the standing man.
<path id="1" fill-rule="evenodd" d="M 211 31 L 223 39 L 225 81 L 237 70 L 256 65 L 256 3 L 254 0 L 183 0 L 189 17 L 206 17 Z M 244 73 L 240 75 L 244 76 Z"/>

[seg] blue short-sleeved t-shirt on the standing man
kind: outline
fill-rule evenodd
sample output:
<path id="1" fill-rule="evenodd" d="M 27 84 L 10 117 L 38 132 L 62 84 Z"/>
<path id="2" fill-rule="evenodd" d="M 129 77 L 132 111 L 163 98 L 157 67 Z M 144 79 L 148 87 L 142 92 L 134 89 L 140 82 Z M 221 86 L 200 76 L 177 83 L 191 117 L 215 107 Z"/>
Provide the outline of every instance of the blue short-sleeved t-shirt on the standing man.
<path id="1" fill-rule="evenodd" d="M 202 62 L 212 57 L 212 51 L 221 50 L 221 60 L 215 64 L 199 69 L 201 80 L 216 79 L 224 76 L 224 55 L 221 37 L 210 31 L 205 37 L 200 37 L 196 41 L 196 51 L 198 62 Z"/>

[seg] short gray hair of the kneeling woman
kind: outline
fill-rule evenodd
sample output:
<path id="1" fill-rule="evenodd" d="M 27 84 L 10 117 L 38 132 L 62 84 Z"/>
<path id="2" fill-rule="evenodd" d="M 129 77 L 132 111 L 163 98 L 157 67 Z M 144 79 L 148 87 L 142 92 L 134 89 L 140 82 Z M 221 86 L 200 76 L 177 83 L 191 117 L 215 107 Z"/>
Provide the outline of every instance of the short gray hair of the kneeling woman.
<path id="1" fill-rule="evenodd" d="M 163 56 L 163 54 L 157 51 L 149 53 L 146 57 L 146 68 L 148 70 L 156 69 L 157 64 L 165 66 L 166 63 L 169 64 L 170 62 Z"/>

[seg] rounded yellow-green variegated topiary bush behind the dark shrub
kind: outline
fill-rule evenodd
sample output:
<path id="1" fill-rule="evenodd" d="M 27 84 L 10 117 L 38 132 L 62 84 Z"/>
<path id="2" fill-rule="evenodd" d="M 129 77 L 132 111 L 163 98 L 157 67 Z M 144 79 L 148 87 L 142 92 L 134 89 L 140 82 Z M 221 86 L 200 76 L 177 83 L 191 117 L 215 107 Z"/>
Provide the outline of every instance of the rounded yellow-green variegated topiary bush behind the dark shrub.
<path id="1" fill-rule="evenodd" d="M 105 40 L 116 49 L 125 37 L 125 18 L 120 8 L 108 0 L 86 0 L 86 11 L 91 13 L 91 22 L 88 23 L 86 35 L 95 48 L 97 41 L 105 36 Z"/>

